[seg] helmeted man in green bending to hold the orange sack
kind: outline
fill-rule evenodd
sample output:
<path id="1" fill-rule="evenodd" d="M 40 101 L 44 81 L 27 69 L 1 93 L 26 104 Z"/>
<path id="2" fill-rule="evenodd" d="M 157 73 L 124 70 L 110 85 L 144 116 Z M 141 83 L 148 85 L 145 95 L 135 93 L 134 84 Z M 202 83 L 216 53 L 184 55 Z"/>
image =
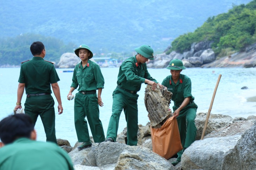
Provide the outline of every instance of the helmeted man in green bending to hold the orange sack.
<path id="1" fill-rule="evenodd" d="M 196 138 L 196 110 L 197 105 L 194 103 L 194 97 L 191 94 L 191 80 L 188 76 L 180 74 L 186 67 L 179 59 L 170 61 L 167 69 L 170 69 L 171 75 L 167 76 L 162 85 L 173 93 L 171 100 L 174 101 L 173 116 L 177 118 L 178 128 L 183 150 L 178 152 L 177 161 L 172 162 L 174 166 L 181 161 L 181 156 L 186 148 L 195 141 Z"/>

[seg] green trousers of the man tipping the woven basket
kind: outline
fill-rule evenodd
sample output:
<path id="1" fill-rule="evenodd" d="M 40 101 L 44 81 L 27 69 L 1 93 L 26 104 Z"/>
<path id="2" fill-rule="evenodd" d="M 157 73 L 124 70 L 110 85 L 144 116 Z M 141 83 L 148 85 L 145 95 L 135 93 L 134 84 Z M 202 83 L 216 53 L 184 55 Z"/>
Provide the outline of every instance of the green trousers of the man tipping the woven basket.
<path id="1" fill-rule="evenodd" d="M 116 88 L 114 90 L 112 115 L 108 124 L 107 138 L 111 137 L 114 141 L 116 141 L 119 118 L 123 110 L 127 122 L 127 145 L 137 145 L 138 97 L 138 94 L 132 94 L 120 88 Z"/>

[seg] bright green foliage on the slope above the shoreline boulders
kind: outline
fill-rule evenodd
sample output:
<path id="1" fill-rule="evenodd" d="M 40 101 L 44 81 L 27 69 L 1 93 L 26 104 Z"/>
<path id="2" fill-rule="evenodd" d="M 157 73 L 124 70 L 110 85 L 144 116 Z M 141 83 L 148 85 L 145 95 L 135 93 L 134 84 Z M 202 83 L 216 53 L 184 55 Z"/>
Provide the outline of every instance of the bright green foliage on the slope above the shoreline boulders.
<path id="1" fill-rule="evenodd" d="M 244 51 L 247 46 L 255 42 L 255 29 L 256 0 L 253 0 L 247 5 L 234 5 L 228 13 L 209 17 L 193 33 L 176 38 L 171 44 L 171 50 L 182 53 L 190 50 L 191 43 L 208 40 L 213 41 L 212 48 L 220 55 L 225 53 L 222 49 Z"/>

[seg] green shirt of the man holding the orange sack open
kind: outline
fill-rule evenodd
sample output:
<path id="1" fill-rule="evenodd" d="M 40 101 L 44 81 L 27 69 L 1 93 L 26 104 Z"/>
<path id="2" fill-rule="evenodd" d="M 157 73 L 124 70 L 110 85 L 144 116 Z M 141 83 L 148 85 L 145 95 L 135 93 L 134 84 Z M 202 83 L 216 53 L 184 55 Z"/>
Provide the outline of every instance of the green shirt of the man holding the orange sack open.
<path id="1" fill-rule="evenodd" d="M 171 75 L 169 75 L 163 80 L 162 85 L 173 93 L 171 100 L 174 101 L 174 105 L 177 107 L 182 104 L 186 97 L 190 97 L 189 102 L 193 102 L 195 99 L 191 94 L 191 80 L 184 74 L 180 74 L 180 78 L 176 84 L 171 79 Z"/>

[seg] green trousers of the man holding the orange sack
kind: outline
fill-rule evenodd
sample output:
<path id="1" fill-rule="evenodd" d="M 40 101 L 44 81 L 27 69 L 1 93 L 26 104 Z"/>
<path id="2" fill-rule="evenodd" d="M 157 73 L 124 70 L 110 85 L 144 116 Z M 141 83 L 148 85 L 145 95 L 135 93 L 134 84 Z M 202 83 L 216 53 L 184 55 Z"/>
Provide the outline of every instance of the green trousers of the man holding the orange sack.
<path id="1" fill-rule="evenodd" d="M 173 106 L 174 111 L 177 108 L 177 106 Z M 177 161 L 181 161 L 181 156 L 184 152 L 184 149 L 188 148 L 196 139 L 196 110 L 197 105 L 193 102 L 189 104 L 187 108 L 180 111 L 180 114 L 177 117 L 178 130 L 180 131 L 181 144 L 183 147 L 183 150 L 177 153 Z"/>

